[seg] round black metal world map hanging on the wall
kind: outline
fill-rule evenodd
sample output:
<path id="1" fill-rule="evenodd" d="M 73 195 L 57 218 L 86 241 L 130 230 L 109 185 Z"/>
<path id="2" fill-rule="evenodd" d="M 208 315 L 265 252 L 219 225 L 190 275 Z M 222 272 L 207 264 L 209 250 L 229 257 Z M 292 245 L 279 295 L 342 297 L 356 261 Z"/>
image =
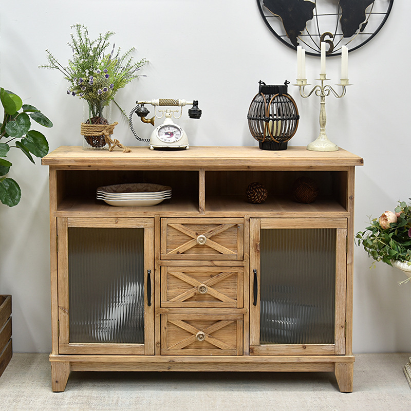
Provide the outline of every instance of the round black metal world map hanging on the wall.
<path id="1" fill-rule="evenodd" d="M 264 22 L 287 46 L 302 46 L 307 54 L 341 54 L 368 43 L 382 28 L 394 0 L 257 0 Z"/>

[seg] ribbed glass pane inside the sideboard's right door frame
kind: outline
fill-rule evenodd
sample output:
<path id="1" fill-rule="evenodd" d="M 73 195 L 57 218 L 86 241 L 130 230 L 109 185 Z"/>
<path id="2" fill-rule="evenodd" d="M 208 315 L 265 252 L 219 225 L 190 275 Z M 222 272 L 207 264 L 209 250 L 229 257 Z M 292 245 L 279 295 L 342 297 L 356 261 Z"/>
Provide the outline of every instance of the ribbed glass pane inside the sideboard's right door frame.
<path id="1" fill-rule="evenodd" d="M 260 344 L 333 344 L 335 229 L 260 232 Z"/>

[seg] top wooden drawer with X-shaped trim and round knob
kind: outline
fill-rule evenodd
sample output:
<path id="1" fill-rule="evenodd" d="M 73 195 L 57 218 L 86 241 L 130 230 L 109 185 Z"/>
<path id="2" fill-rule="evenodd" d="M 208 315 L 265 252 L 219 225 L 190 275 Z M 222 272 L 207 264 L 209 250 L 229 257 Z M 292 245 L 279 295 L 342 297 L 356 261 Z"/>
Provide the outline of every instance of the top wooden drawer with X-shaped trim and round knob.
<path id="1" fill-rule="evenodd" d="M 242 218 L 162 218 L 161 259 L 242 260 Z"/>

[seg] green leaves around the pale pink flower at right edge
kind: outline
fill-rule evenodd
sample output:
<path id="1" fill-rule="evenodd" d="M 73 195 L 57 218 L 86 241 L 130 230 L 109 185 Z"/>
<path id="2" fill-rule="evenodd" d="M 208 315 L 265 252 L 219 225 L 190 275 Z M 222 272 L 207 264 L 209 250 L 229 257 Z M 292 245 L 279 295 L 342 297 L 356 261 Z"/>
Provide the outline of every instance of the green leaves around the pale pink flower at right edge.
<path id="1" fill-rule="evenodd" d="M 391 260 L 411 261 L 411 206 L 399 201 L 395 208 L 397 221 L 382 228 L 379 219 L 370 219 L 370 226 L 357 233 L 358 245 L 375 261 L 391 265 Z"/>

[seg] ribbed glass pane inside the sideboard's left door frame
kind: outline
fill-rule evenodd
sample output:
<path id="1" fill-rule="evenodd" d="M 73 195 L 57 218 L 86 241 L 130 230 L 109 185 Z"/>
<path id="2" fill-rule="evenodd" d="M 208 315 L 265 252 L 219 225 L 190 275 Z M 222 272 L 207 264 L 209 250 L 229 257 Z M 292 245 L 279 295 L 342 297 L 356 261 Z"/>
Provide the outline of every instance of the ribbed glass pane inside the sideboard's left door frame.
<path id="1" fill-rule="evenodd" d="M 69 342 L 144 343 L 144 229 L 68 228 Z"/>

